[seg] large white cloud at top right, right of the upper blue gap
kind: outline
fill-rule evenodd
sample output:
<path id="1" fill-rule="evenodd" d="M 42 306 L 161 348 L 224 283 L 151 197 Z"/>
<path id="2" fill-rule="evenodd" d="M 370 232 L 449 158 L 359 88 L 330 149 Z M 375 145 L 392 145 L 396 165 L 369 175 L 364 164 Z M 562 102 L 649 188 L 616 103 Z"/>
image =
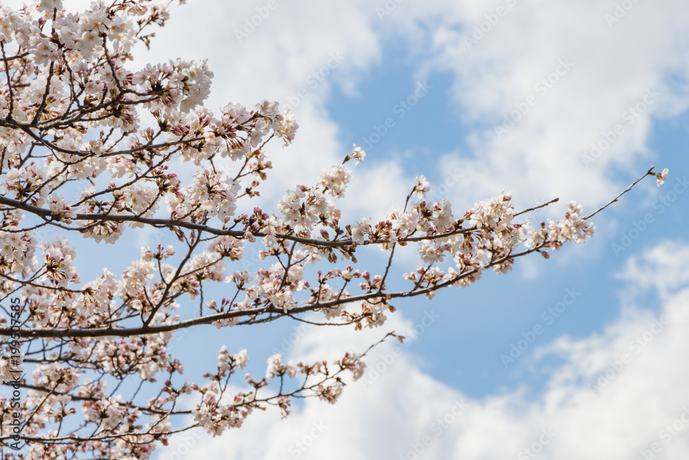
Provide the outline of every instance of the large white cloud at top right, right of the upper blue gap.
<path id="1" fill-rule="evenodd" d="M 471 157 L 453 152 L 442 161 L 441 168 L 466 173 L 453 197 L 477 199 L 506 187 L 525 201 L 557 196 L 594 206 L 622 186 L 610 179 L 615 168 L 634 176 L 652 164 L 653 117 L 682 112 L 689 102 L 689 46 L 681 32 L 689 5 L 634 3 L 609 27 L 604 15 L 617 3 L 471 1 L 448 12 L 433 33 L 436 58 L 426 71 L 451 70 L 466 121 L 485 126 L 469 136 Z M 499 6 L 504 16 L 492 25 Z M 485 32 L 467 42 L 475 28 Z M 541 83 L 549 76 L 558 82 Z M 532 105 L 524 106 L 530 96 Z M 643 113 L 626 113 L 644 108 L 644 98 Z M 517 105 L 528 112 L 513 112 Z M 494 127 L 512 113 L 520 120 L 497 137 Z M 617 139 L 587 168 L 582 157 L 592 143 L 605 147 L 609 132 Z"/>

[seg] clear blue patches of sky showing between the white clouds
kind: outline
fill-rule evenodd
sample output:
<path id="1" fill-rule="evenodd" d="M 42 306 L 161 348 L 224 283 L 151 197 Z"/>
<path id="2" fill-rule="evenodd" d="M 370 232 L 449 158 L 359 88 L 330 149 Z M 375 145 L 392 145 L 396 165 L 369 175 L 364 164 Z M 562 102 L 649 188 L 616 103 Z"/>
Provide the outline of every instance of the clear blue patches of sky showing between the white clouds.
<path id="1" fill-rule="evenodd" d="M 384 50 L 382 61 L 371 66 L 362 77 L 356 96 L 335 88 L 325 107 L 338 123 L 338 139 L 343 144 L 351 139 L 358 145 L 366 140 L 377 140 L 374 133 L 380 132 L 384 119 L 391 117 L 395 125 L 380 142 L 373 143 L 367 150 L 367 163 L 393 158 L 402 161 L 405 171 L 410 174 L 426 174 L 431 183 L 438 184 L 442 183 L 438 157 L 443 152 L 471 155 L 471 148 L 466 146 L 465 140 L 476 128 L 476 123 L 462 123 L 459 113 L 462 109 L 452 101 L 452 80 L 446 72 L 431 74 L 424 80 L 431 89 L 412 110 L 405 110 L 404 117 L 385 110 L 395 107 L 413 92 L 418 83 L 415 72 L 420 65 L 422 59 L 414 56 L 408 48 L 389 46 Z M 443 116 L 438 117 L 438 114 Z M 433 122 L 429 123 L 429 120 Z M 647 139 L 653 154 L 649 159 L 636 162 L 639 175 L 651 164 L 670 168 L 673 176 L 688 170 L 686 155 L 682 154 L 686 152 L 684 146 L 689 141 L 688 120 L 686 113 L 672 119 L 651 119 L 652 130 Z M 622 121 L 620 124 L 626 123 Z M 620 183 L 633 181 L 629 175 L 633 172 L 631 168 L 624 172 L 619 169 L 610 172 L 619 177 Z M 661 189 L 660 192 L 664 194 L 669 190 Z M 442 314 L 443 323 L 433 328 L 430 337 L 424 337 L 413 347 L 414 352 L 424 357 L 426 372 L 473 397 L 484 397 L 524 383 L 539 388 L 548 379 L 548 374 L 538 367 L 529 368 L 528 360 L 521 359 L 524 355 L 514 363 L 508 361 L 507 368 L 500 359 L 501 354 L 508 354 L 512 343 L 523 338 L 522 332 L 531 330 L 536 324 L 544 326 L 544 333 L 530 346 L 531 351 L 562 334 L 581 338 L 601 332 L 620 314 L 616 291 L 623 288 L 623 283 L 615 280 L 613 275 L 621 270 L 626 256 L 663 239 L 686 236 L 682 230 L 687 223 L 686 212 L 682 212 L 686 210 L 686 199 L 680 198 L 678 206 L 669 206 L 668 212 L 657 217 L 655 214 L 659 214 L 659 210 L 644 201 L 648 201 L 648 190 L 634 190 L 628 194 L 597 219 L 598 226 L 603 228 L 611 228 L 617 223 L 621 230 L 619 237 L 609 235 L 606 238 L 608 244 L 597 248 L 567 248 L 563 252 L 574 251 L 577 256 L 565 264 L 558 263 L 559 254 L 553 254 L 555 257 L 550 261 L 539 260 L 537 265 L 542 272 L 535 279 L 525 280 L 521 267 L 517 266 L 510 276 L 490 274 L 471 289 L 440 292 L 431 305 Z M 459 204 L 465 208 L 471 206 L 471 202 L 466 200 Z M 655 222 L 643 237 L 635 240 L 632 247 L 621 246 L 621 234 L 634 228 L 633 223 L 643 220 L 647 212 L 654 215 Z M 544 217 L 537 216 L 533 220 L 539 221 L 539 218 Z M 620 244 L 623 249 L 613 247 L 613 244 Z M 561 301 L 567 289 L 582 295 L 561 318 L 555 319 L 548 313 L 551 319 L 542 319 L 544 311 Z M 511 301 L 506 303 L 506 298 Z M 413 305 L 418 300 L 407 303 L 409 306 L 403 310 L 405 317 L 414 321 L 423 316 L 422 312 L 414 311 Z M 438 350 L 448 343 L 466 350 L 452 357 L 451 366 L 446 366 L 444 359 L 439 360 L 436 356 Z"/>

